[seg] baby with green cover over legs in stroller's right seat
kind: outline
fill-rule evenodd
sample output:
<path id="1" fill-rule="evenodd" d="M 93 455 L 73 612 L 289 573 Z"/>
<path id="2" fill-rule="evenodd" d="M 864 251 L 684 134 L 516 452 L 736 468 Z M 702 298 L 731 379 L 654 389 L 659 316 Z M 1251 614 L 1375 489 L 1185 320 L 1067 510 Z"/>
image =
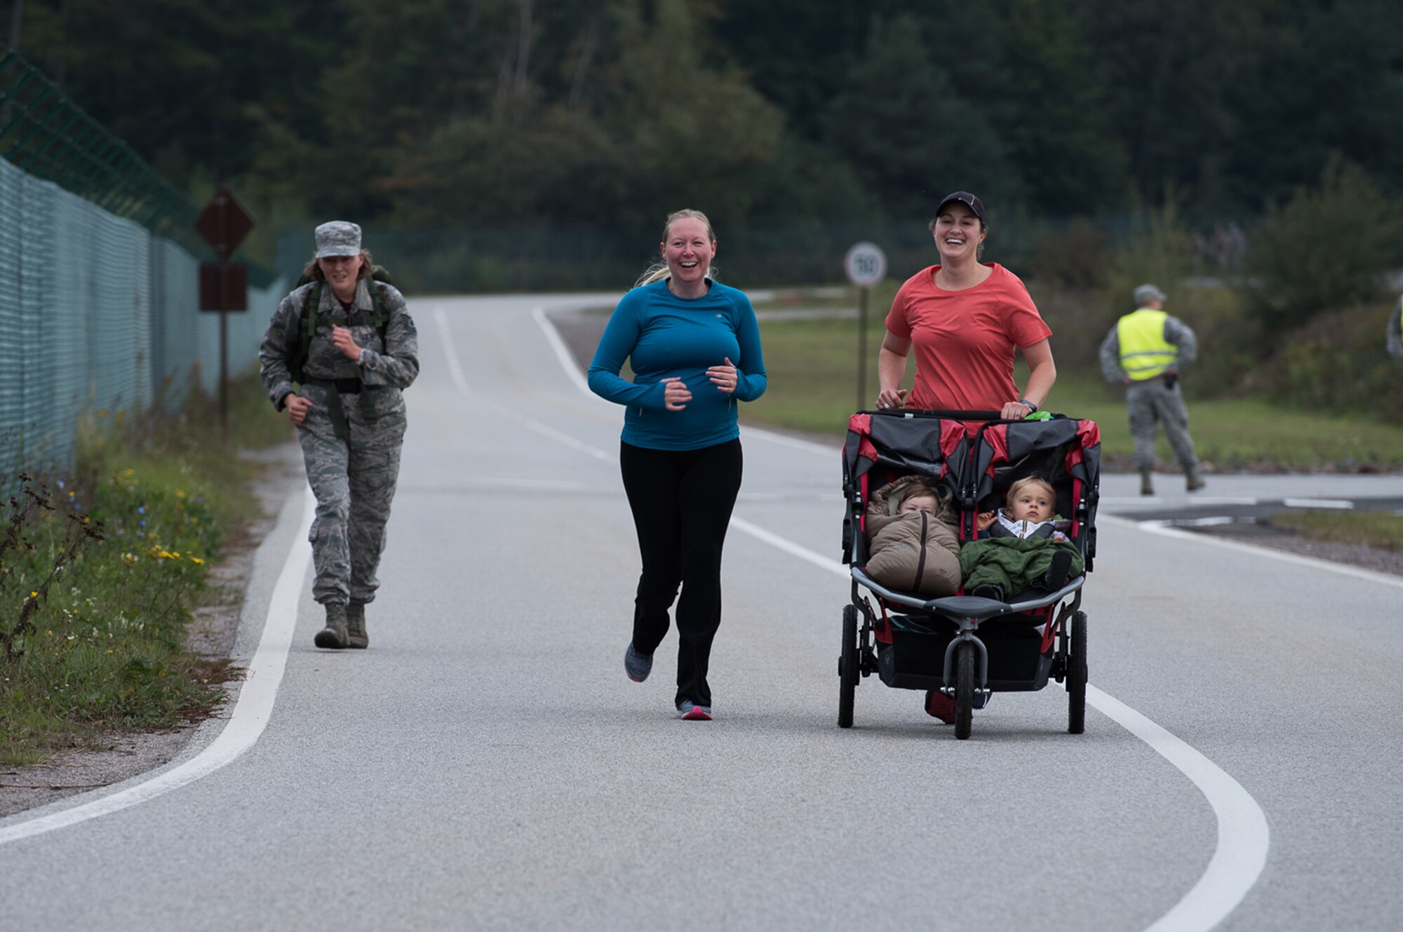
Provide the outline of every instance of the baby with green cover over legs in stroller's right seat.
<path id="1" fill-rule="evenodd" d="M 1002 602 L 1030 588 L 1055 592 L 1082 574 L 1086 561 L 1052 514 L 1056 493 L 1041 476 L 1024 476 L 1009 486 L 1007 507 L 979 514 L 975 522 L 986 538 L 958 552 L 965 592 Z"/>

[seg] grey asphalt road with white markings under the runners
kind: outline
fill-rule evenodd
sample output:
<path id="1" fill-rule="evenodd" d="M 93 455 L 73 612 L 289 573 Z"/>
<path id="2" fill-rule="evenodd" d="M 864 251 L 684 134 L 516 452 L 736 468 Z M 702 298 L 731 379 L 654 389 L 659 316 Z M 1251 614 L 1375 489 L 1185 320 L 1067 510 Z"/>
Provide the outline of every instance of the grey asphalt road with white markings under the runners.
<path id="1" fill-rule="evenodd" d="M 1086 734 L 1049 686 L 995 696 L 957 741 L 875 677 L 839 730 L 838 451 L 745 431 L 717 720 L 673 720 L 673 639 L 648 682 L 623 672 L 622 411 L 533 313 L 581 300 L 414 306 L 370 650 L 311 646 L 290 501 L 227 727 L 0 820 L 0 929 L 1403 925 L 1403 580 L 1141 524 L 1135 477 L 1103 481 Z M 1399 497 L 1403 477 L 1212 491 Z"/>

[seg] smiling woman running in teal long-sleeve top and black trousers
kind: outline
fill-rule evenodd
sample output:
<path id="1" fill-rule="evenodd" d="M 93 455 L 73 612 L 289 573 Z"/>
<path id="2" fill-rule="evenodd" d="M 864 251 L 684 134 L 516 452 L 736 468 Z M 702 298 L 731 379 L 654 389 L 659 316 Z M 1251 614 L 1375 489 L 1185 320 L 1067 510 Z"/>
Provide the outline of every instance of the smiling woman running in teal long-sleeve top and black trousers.
<path id="1" fill-rule="evenodd" d="M 624 406 L 619 463 L 643 554 L 624 670 L 647 679 L 676 599 L 678 717 L 710 720 L 721 546 L 741 488 L 737 401 L 763 394 L 765 358 L 751 300 L 710 275 L 706 215 L 671 215 L 659 251 L 664 261 L 615 307 L 589 387 Z M 633 382 L 619 376 L 624 359 Z"/>

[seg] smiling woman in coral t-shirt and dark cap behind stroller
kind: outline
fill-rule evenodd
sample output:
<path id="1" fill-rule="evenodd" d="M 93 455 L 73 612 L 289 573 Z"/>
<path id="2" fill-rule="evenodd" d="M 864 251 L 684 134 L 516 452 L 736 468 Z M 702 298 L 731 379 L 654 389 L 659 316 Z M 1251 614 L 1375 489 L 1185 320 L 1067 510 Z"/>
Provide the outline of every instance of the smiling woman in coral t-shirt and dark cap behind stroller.
<path id="1" fill-rule="evenodd" d="M 989 234 L 984 204 L 968 191 L 951 194 L 940 202 L 930 232 L 940 265 L 906 279 L 891 303 L 877 358 L 877 407 L 1033 414 L 1056 380 L 1052 330 L 1017 275 L 979 261 Z M 916 378 L 908 397 L 901 383 L 912 348 Z M 1016 350 L 1023 350 L 1030 369 L 1021 394 L 1013 382 Z"/>

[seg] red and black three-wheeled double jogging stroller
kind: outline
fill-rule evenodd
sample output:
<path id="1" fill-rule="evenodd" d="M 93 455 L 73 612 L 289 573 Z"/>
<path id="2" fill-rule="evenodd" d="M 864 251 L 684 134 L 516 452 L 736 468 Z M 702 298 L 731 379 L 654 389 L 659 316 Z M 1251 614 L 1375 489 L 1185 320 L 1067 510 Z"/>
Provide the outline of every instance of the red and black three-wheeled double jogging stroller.
<path id="1" fill-rule="evenodd" d="M 1005 421 L 988 411 L 884 410 L 854 414 L 843 446 L 843 561 L 852 567 L 852 604 L 843 606 L 838 660 L 838 724 L 853 724 L 861 678 L 877 674 L 897 689 L 925 689 L 926 707 L 954 700 L 955 737 L 968 738 L 975 707 L 992 692 L 1034 692 L 1048 679 L 1066 684 L 1068 731 L 1086 720 L 1086 574 L 1056 591 L 1007 594 L 1006 602 L 972 595 L 929 598 L 884 587 L 867 571 L 867 504 L 873 491 L 909 474 L 936 480 L 958 510 L 961 546 L 979 539 L 976 517 L 1003 504 L 1009 486 L 1038 474 L 1056 493 L 1056 514 L 1086 573 L 1096 556 L 1100 431 L 1093 421 Z M 861 592 L 875 597 L 875 606 Z M 962 590 L 961 590 L 962 592 Z"/>

